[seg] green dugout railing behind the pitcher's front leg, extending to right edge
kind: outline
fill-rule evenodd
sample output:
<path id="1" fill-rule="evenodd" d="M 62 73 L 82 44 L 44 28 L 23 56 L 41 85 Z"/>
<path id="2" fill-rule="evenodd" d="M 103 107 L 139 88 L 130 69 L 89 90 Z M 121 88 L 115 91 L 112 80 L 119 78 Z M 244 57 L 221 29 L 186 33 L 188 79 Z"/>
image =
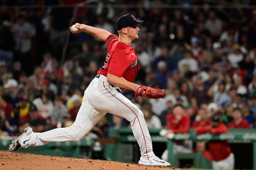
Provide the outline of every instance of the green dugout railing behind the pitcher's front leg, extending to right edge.
<path id="1" fill-rule="evenodd" d="M 207 160 L 202 158 L 202 155 L 198 154 L 174 154 L 170 152 L 173 150 L 173 142 L 175 140 L 186 140 L 190 139 L 193 142 L 198 140 L 210 141 L 210 140 L 228 140 L 229 143 L 252 143 L 253 144 L 253 169 L 256 169 L 256 129 L 229 129 L 228 133 L 221 135 L 212 135 L 210 133 L 205 133 L 201 135 L 196 135 L 194 129 L 190 129 L 189 133 L 184 134 L 175 134 L 172 140 L 168 140 L 165 137 L 159 136 L 159 132 L 161 129 L 148 129 L 152 142 L 162 142 L 166 143 L 166 148 L 169 150 L 168 161 L 171 162 L 173 167 L 179 167 L 180 158 L 191 158 L 194 159 L 196 168 L 209 168 L 210 164 L 207 163 Z M 132 129 L 130 128 L 122 128 L 122 129 L 110 129 L 109 130 L 110 137 L 117 137 L 119 139 L 119 144 L 115 145 L 115 148 L 112 148 L 112 151 L 116 151 L 113 155 L 115 155 L 116 159 L 122 158 L 121 155 L 123 153 L 120 152 L 120 147 L 122 143 L 137 143 L 135 137 L 132 134 Z M 113 150 L 114 149 L 114 150 Z M 121 154 L 120 154 L 121 153 Z M 200 163 L 201 162 L 201 163 Z M 203 162 L 203 163 L 202 163 Z"/>

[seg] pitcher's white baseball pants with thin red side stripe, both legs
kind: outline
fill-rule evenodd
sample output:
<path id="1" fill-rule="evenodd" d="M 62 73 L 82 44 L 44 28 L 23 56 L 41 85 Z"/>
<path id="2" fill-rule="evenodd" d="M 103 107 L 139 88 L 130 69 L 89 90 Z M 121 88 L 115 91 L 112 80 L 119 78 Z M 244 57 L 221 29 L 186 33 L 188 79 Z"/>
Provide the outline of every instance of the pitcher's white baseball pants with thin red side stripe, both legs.
<path id="1" fill-rule="evenodd" d="M 107 112 L 131 122 L 133 135 L 140 146 L 140 159 L 155 157 L 142 111 L 109 85 L 103 75 L 94 78 L 85 90 L 82 105 L 72 126 L 34 133 L 29 144 L 41 146 L 50 142 L 79 141 Z"/>

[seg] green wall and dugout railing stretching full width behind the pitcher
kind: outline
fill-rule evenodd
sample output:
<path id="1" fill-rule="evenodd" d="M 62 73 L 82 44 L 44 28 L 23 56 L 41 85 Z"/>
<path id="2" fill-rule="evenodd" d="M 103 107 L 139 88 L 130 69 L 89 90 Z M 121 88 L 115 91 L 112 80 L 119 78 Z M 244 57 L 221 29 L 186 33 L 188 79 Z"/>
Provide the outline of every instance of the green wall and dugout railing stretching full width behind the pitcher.
<path id="1" fill-rule="evenodd" d="M 242 130 L 230 129 L 228 133 L 221 135 L 212 135 L 205 133 L 196 135 L 194 129 L 190 129 L 187 134 L 176 134 L 172 140 L 159 136 L 161 129 L 148 129 L 152 142 L 164 143 L 169 150 L 168 161 L 171 162 L 173 167 L 179 167 L 179 159 L 189 158 L 194 160 L 196 168 L 210 168 L 209 162 L 203 157 L 202 154 L 174 154 L 170 152 L 173 150 L 174 140 L 191 139 L 193 142 L 203 140 L 228 140 L 229 143 L 251 143 L 253 144 L 253 169 L 256 169 L 256 129 Z M 105 143 L 105 156 L 108 160 L 120 162 L 134 162 L 134 152 L 138 148 L 137 141 L 132 134 L 132 129 L 109 129 L 109 137 L 117 138 L 117 143 Z M 0 150 L 7 151 L 11 139 L 0 139 Z M 92 140 L 82 139 L 78 142 L 57 142 L 49 143 L 39 147 L 28 147 L 26 149 L 19 149 L 18 152 L 45 154 L 53 156 L 67 156 L 75 158 L 89 158 L 89 148 L 94 143 Z M 134 149 L 135 148 L 135 149 Z M 84 150 L 87 152 L 84 153 Z M 138 158 L 137 158 L 138 159 Z"/>

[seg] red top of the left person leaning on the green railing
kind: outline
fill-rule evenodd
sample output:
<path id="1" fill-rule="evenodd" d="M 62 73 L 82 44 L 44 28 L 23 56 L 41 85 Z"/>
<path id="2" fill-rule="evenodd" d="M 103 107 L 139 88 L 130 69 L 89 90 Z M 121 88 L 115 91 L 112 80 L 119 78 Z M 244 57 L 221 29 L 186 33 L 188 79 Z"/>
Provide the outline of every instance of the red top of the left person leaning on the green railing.
<path id="1" fill-rule="evenodd" d="M 188 133 L 190 119 L 187 115 L 182 115 L 180 122 L 174 123 L 175 119 L 173 114 L 166 116 L 166 126 L 168 129 L 172 129 L 173 133 Z"/>

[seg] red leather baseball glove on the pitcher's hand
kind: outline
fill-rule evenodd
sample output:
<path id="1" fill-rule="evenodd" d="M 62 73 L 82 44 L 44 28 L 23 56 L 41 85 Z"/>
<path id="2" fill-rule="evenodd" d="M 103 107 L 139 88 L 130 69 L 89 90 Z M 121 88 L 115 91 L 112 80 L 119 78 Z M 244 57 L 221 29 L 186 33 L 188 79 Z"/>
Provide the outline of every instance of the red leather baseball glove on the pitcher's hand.
<path id="1" fill-rule="evenodd" d="M 142 92 L 145 90 L 144 94 L 142 94 Z M 158 98 L 164 98 L 164 96 L 166 95 L 165 90 L 161 90 L 161 89 L 155 89 L 152 87 L 147 87 L 144 85 L 141 85 L 140 87 L 137 88 L 137 90 L 135 91 L 135 98 L 138 99 L 138 96 L 143 96 L 146 98 L 150 98 L 150 99 L 158 99 Z"/>

